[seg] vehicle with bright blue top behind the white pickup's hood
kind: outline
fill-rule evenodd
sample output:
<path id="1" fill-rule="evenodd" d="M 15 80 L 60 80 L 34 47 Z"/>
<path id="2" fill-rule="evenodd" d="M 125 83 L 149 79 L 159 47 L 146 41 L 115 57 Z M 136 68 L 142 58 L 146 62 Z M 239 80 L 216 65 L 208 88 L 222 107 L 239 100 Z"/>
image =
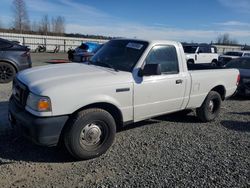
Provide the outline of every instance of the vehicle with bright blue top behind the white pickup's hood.
<path id="1" fill-rule="evenodd" d="M 100 48 L 102 44 L 94 42 L 82 43 L 75 50 L 68 51 L 68 58 L 74 62 L 88 61 Z"/>

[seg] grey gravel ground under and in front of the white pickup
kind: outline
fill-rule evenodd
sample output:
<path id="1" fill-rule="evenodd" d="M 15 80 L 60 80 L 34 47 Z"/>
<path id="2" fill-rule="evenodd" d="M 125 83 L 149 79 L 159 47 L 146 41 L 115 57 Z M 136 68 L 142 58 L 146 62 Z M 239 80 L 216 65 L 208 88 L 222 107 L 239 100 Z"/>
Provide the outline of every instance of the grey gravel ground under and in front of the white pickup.
<path id="1" fill-rule="evenodd" d="M 1 127 L 11 87 L 0 87 Z M 3 132 L 0 187 L 250 187 L 250 100 L 227 100 L 211 123 L 190 113 L 129 125 L 88 161 Z"/>

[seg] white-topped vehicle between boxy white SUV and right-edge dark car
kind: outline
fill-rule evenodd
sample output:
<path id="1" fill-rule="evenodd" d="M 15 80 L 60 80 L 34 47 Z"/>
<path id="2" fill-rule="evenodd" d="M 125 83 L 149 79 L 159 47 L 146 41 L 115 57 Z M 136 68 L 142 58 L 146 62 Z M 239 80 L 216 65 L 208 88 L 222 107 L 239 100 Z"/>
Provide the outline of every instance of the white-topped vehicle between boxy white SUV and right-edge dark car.
<path id="1" fill-rule="evenodd" d="M 249 57 L 250 51 L 228 51 L 219 56 L 218 64 L 220 66 L 226 65 L 230 60 L 239 57 Z"/>

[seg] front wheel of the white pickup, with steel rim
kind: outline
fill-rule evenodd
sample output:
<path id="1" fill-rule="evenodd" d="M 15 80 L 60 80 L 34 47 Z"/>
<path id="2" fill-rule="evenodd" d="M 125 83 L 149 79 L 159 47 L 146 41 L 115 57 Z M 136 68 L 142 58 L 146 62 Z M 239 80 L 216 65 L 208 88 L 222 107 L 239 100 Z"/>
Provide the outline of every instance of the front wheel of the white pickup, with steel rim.
<path id="1" fill-rule="evenodd" d="M 112 145 L 116 133 L 112 115 L 99 108 L 78 112 L 67 126 L 65 146 L 79 160 L 95 158 L 105 153 Z"/>

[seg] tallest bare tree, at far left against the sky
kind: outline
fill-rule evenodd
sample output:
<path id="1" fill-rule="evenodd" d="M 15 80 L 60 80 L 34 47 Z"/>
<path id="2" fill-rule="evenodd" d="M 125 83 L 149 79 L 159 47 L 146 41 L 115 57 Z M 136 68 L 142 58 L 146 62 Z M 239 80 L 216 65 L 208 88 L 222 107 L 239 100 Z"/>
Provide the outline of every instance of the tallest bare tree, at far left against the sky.
<path id="1" fill-rule="evenodd" d="M 13 0 L 14 29 L 22 33 L 30 30 L 30 23 L 24 0 Z"/>

